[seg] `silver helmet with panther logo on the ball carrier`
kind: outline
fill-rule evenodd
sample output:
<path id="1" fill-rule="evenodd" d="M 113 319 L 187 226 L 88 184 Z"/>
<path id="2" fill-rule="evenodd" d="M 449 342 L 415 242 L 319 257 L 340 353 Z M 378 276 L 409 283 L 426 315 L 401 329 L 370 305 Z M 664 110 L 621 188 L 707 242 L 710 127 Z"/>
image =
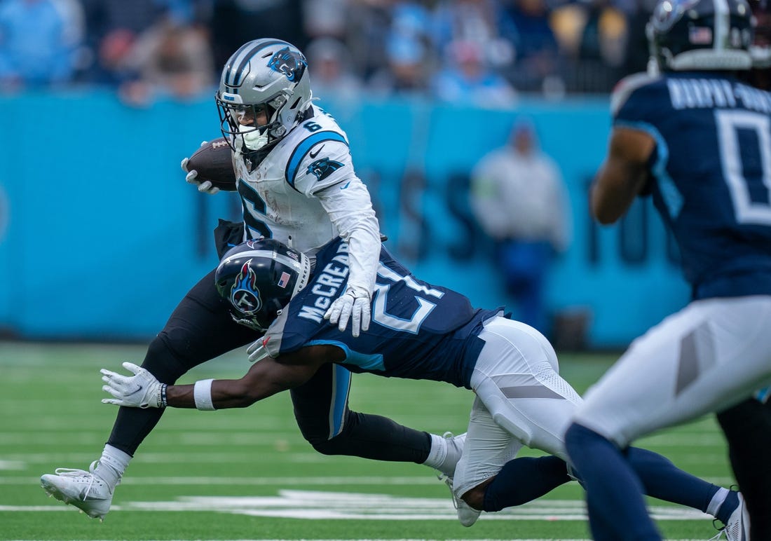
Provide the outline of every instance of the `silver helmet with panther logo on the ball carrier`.
<path id="1" fill-rule="evenodd" d="M 255 39 L 227 60 L 215 99 L 225 139 L 248 157 L 300 123 L 311 97 L 300 49 L 280 39 Z M 263 114 L 268 122 L 258 126 Z"/>

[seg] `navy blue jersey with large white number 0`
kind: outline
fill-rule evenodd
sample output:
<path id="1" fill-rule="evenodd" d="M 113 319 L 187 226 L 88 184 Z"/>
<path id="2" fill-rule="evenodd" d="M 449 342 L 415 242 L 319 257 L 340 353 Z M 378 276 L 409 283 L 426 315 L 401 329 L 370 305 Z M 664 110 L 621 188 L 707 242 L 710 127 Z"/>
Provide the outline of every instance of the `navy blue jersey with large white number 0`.
<path id="1" fill-rule="evenodd" d="M 693 298 L 771 294 L 771 94 L 725 75 L 631 76 L 614 126 L 653 136 L 655 207 Z"/>

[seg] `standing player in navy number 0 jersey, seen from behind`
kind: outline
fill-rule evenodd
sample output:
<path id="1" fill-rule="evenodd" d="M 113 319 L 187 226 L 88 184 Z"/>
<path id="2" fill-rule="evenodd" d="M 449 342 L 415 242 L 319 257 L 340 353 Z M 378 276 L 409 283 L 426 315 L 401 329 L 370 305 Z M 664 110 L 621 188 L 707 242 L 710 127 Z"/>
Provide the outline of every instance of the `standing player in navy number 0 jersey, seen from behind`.
<path id="1" fill-rule="evenodd" d="M 692 301 L 631 344 L 567 430 L 594 539 L 661 539 L 630 467 L 631 442 L 771 381 L 771 93 L 736 76 L 752 66 L 750 7 L 662 0 L 648 39 L 658 74 L 614 91 L 591 210 L 613 223 L 652 193 Z M 749 520 L 725 532 L 748 539 Z"/>

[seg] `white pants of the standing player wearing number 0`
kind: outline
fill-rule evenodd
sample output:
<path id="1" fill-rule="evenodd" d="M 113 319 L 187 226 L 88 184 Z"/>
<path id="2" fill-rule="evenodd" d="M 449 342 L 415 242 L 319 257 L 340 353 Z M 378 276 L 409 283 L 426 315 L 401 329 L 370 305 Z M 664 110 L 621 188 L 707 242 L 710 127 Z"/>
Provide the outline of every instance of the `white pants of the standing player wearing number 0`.
<path id="1" fill-rule="evenodd" d="M 574 420 L 621 448 L 771 381 L 771 296 L 694 301 L 631 343 Z"/>

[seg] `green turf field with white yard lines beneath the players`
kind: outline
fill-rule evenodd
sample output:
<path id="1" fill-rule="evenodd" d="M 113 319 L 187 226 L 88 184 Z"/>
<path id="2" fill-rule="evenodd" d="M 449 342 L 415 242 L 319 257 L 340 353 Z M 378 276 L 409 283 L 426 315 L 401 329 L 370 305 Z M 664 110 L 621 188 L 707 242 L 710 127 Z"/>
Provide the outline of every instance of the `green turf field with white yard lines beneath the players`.
<path id="1" fill-rule="evenodd" d="M 301 438 L 288 395 L 244 410 L 170 409 L 140 447 L 104 523 L 48 499 L 39 476 L 87 469 L 117 408 L 99 402 L 99 368 L 140 364 L 140 346 L 0 342 L 0 539 L 588 539 L 581 488 L 456 522 L 446 487 L 422 465 L 318 455 Z M 583 392 L 608 355 L 562 355 Z M 237 377 L 228 355 L 182 382 Z M 355 375 L 352 408 L 439 434 L 465 430 L 473 395 L 429 381 Z M 638 442 L 728 486 L 726 447 L 712 418 Z M 532 455 L 537 453 L 530 453 Z M 699 512 L 651 500 L 668 539 L 709 539 Z"/>

